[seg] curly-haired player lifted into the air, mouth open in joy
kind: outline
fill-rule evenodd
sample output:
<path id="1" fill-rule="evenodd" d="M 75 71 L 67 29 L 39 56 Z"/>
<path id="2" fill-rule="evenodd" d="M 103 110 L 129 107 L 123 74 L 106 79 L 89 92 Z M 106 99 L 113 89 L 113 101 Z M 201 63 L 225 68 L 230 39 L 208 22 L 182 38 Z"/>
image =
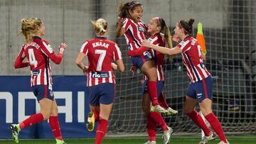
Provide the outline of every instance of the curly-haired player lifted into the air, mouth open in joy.
<path id="1" fill-rule="evenodd" d="M 140 48 L 142 40 L 145 39 L 146 25 L 141 20 L 142 4 L 138 1 L 127 2 L 119 6 L 119 21 L 117 22 L 116 35 L 120 37 L 124 35 L 127 40 L 129 51 Z M 152 111 L 159 113 L 167 113 L 166 109 L 159 105 L 156 90 L 156 67 L 150 52 L 144 52 L 137 57 L 131 57 L 132 64 L 138 67 L 146 77 L 149 78 L 147 87 L 149 89 L 149 97 L 152 103 Z"/>

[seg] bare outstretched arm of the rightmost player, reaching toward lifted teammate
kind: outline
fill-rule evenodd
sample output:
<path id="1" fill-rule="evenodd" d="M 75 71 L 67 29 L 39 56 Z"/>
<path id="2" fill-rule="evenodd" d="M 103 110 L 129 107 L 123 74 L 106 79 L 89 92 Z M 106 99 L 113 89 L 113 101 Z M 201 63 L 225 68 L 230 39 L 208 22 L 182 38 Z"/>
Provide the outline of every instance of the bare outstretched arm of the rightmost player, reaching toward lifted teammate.
<path id="1" fill-rule="evenodd" d="M 177 46 L 174 48 L 165 48 L 165 47 L 151 44 L 148 40 L 142 40 L 142 45 L 148 48 L 152 48 L 153 50 L 157 50 L 166 55 L 176 55 L 182 52 L 181 48 L 178 48 Z"/>

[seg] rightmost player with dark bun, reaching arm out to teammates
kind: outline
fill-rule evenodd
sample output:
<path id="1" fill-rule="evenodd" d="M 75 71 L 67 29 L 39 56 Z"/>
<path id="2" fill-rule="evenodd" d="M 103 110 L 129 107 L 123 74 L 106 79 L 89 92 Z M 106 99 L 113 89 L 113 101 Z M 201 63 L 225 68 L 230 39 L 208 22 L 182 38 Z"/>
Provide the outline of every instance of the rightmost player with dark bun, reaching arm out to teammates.
<path id="1" fill-rule="evenodd" d="M 167 55 L 181 53 L 183 64 L 186 66 L 188 77 L 191 79 L 184 104 L 184 112 L 204 131 L 206 136 L 200 144 L 208 143 L 209 140 L 215 139 L 215 134 L 208 129 L 203 118 L 195 110 L 197 103 L 199 103 L 203 116 L 206 117 L 210 126 L 213 128 L 213 131 L 218 134 L 220 144 L 228 143 L 220 125 L 220 121 L 218 121 L 218 118 L 216 118 L 212 111 L 213 79 L 206 69 L 206 66 L 203 64 L 203 60 L 205 60 L 206 57 L 201 54 L 201 48 L 198 41 L 190 35 L 193 30 L 193 21 L 194 19 L 191 18 L 189 21 L 181 20 L 176 23 L 176 28 L 174 30 L 175 35 L 178 40 L 182 41 L 176 45 L 175 48 L 164 48 L 147 41 L 143 41 L 142 45 Z"/>

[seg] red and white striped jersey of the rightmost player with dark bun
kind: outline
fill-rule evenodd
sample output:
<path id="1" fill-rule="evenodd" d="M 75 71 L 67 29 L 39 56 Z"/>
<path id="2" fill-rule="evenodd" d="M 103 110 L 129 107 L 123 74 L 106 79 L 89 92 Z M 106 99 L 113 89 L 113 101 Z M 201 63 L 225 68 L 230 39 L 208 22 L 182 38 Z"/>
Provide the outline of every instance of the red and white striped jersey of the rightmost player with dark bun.
<path id="1" fill-rule="evenodd" d="M 178 43 L 177 46 L 182 50 L 183 64 L 186 66 L 191 82 L 206 79 L 210 75 L 210 72 L 208 72 L 206 66 L 203 64 L 201 48 L 196 38 L 187 37 L 181 43 Z"/>

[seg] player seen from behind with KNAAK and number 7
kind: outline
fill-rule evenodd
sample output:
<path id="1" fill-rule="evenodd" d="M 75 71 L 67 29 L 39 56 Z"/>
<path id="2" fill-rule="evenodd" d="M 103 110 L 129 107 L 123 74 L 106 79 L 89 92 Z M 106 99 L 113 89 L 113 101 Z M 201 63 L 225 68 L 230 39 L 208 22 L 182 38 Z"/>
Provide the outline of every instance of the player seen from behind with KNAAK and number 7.
<path id="1" fill-rule="evenodd" d="M 87 87 L 90 91 L 90 109 L 88 114 L 87 130 L 93 131 L 95 121 L 97 126 L 95 144 L 102 143 L 107 132 L 107 123 L 114 102 L 115 80 L 114 70 L 124 71 L 122 54 L 116 43 L 107 40 L 107 21 L 99 18 L 92 21 L 96 38 L 86 40 L 83 43 L 76 64 L 87 73 Z M 89 67 L 82 63 L 85 55 L 88 57 Z M 112 63 L 117 62 L 117 65 Z"/>

